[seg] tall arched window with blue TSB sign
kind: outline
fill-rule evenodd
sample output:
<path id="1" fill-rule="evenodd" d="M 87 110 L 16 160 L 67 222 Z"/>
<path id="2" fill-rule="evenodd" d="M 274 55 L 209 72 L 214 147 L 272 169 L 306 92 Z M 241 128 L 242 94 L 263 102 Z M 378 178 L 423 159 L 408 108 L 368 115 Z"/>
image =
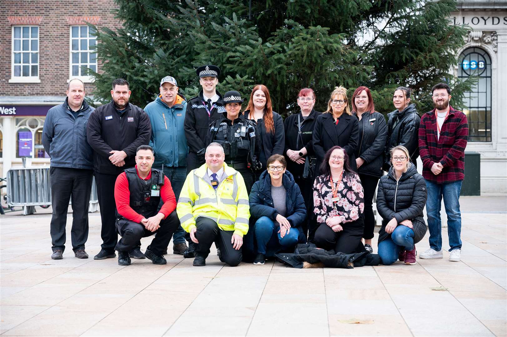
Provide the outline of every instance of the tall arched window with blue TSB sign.
<path id="1" fill-rule="evenodd" d="M 491 58 L 481 48 L 467 48 L 459 60 L 458 78 L 479 78 L 475 87 L 464 93 L 468 141 L 491 141 Z"/>

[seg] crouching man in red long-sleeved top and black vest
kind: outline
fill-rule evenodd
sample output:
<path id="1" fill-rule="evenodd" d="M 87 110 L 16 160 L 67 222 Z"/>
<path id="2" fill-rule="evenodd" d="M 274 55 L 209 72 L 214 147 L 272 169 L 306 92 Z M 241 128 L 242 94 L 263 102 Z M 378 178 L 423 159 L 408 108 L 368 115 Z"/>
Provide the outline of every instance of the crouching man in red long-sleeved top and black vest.
<path id="1" fill-rule="evenodd" d="M 115 249 L 120 266 L 130 265 L 129 252 L 141 238 L 155 233 L 157 235 L 144 256 L 154 265 L 165 265 L 167 261 L 162 253 L 179 227 L 171 183 L 163 172 L 152 169 L 154 160 L 153 148 L 141 145 L 137 147 L 135 167 L 126 169 L 116 179 L 115 202 L 119 215 L 116 228 L 121 239 Z M 158 210 L 161 199 L 163 205 Z"/>

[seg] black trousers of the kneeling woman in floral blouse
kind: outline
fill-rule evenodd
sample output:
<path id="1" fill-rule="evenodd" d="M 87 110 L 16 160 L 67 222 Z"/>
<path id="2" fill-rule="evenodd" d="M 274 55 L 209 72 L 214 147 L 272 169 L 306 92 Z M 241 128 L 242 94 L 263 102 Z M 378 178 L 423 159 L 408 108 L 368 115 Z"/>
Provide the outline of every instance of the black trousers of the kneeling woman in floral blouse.
<path id="1" fill-rule="evenodd" d="M 365 246 L 361 242 L 364 231 L 364 221 L 362 217 L 352 222 L 342 223 L 343 231 L 334 232 L 331 227 L 321 223 L 315 231 L 315 245 L 325 250 L 334 249 L 335 252 L 345 254 L 363 252 Z"/>

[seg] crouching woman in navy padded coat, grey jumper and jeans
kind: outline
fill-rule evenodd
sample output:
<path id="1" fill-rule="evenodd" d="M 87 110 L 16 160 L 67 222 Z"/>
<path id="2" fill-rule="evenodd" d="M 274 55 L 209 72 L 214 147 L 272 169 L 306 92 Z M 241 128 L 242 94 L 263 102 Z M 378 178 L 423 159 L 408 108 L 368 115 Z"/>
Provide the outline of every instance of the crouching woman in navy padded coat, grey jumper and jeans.
<path id="1" fill-rule="evenodd" d="M 281 155 L 267 160 L 267 170 L 250 192 L 250 216 L 255 222 L 257 257 L 254 265 L 264 265 L 266 255 L 281 249 L 294 249 L 298 241 L 304 243 L 301 229 L 306 207 L 293 175 L 286 171 L 287 162 Z"/>

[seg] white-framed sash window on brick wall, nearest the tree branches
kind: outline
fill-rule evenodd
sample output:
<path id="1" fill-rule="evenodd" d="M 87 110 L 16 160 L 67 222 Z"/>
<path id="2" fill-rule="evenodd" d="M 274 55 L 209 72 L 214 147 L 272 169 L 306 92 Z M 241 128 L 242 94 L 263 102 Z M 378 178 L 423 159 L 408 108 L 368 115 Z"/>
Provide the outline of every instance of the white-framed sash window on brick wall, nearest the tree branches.
<path id="1" fill-rule="evenodd" d="M 91 81 L 86 69 L 97 71 L 97 40 L 95 31 L 88 26 L 70 26 L 70 79 Z"/>

